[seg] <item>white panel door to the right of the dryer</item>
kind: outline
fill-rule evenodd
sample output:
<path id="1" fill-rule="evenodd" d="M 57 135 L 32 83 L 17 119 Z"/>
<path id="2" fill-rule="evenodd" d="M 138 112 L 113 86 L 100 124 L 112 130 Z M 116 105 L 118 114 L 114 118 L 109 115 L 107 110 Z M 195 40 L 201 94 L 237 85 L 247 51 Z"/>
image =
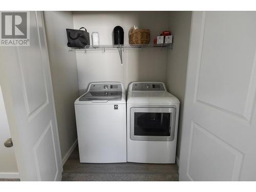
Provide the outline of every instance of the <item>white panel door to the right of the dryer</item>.
<path id="1" fill-rule="evenodd" d="M 256 181 L 256 12 L 193 12 L 180 181 Z"/>

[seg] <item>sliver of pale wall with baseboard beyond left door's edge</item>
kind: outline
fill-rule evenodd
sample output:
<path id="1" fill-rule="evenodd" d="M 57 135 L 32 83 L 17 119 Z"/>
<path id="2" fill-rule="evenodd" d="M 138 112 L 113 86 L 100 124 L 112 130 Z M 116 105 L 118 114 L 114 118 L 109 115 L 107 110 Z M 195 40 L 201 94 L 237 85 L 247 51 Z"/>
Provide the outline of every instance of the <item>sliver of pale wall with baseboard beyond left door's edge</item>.
<path id="1" fill-rule="evenodd" d="M 18 168 L 13 147 L 5 147 L 6 139 L 11 138 L 4 98 L 0 86 L 0 178 L 18 178 Z"/>

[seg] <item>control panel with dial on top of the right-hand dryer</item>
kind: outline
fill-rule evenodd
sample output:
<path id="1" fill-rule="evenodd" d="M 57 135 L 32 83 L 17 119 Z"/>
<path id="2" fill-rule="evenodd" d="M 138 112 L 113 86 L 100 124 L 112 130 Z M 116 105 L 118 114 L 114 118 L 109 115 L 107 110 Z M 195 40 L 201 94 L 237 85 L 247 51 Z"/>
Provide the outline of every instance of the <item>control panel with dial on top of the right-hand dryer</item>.
<path id="1" fill-rule="evenodd" d="M 132 91 L 165 91 L 162 82 L 137 82 L 133 83 Z"/>

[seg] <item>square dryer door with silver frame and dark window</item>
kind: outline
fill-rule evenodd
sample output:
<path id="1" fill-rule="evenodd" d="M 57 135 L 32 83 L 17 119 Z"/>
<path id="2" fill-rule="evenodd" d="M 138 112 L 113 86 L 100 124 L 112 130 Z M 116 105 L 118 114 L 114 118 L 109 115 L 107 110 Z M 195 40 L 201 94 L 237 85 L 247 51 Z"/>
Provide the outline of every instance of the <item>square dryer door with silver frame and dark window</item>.
<path id="1" fill-rule="evenodd" d="M 173 141 L 176 108 L 131 108 L 130 138 L 139 141 Z"/>

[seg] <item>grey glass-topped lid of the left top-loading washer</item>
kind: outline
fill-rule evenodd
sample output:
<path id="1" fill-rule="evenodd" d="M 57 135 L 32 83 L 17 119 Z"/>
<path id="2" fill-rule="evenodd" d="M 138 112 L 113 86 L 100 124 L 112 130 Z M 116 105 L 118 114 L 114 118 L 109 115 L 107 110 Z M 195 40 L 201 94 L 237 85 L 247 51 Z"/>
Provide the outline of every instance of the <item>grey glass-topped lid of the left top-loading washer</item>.
<path id="1" fill-rule="evenodd" d="M 122 92 L 120 91 L 90 91 L 79 98 L 79 101 L 92 100 L 121 100 Z"/>

